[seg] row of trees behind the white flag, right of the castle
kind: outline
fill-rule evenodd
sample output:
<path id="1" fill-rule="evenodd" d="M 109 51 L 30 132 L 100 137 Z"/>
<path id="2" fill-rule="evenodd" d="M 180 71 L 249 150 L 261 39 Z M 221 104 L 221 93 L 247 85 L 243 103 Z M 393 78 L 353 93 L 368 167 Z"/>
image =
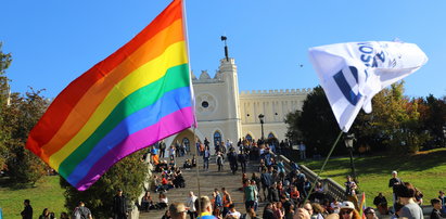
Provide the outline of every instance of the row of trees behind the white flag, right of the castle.
<path id="1" fill-rule="evenodd" d="M 358 114 L 351 128 L 356 147 L 394 153 L 416 153 L 421 149 L 444 146 L 446 104 L 430 95 L 409 100 L 404 95 L 404 82 L 382 90 L 373 100 L 373 112 Z M 309 147 L 327 154 L 340 129 L 321 87 L 308 94 L 302 112 L 286 115 L 288 137 L 303 140 Z M 335 153 L 345 151 L 344 143 Z"/>

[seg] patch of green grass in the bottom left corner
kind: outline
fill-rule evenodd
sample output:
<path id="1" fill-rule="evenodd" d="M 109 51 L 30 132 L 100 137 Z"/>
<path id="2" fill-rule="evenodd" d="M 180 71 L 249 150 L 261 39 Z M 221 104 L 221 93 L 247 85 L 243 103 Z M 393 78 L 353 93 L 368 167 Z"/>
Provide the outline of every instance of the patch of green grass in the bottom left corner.
<path id="1" fill-rule="evenodd" d="M 15 189 L 4 185 L 0 179 L 0 207 L 3 209 L 3 218 L 22 218 L 23 201 L 29 199 L 33 206 L 33 218 L 38 218 L 44 208 L 55 214 L 59 218 L 64 207 L 64 190 L 59 185 L 59 176 L 43 177 L 35 188 Z"/>

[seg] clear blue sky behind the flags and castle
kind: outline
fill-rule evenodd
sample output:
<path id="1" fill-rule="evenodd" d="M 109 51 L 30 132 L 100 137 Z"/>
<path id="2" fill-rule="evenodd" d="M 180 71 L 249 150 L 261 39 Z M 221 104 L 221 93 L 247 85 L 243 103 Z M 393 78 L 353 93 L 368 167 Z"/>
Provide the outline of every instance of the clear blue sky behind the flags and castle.
<path id="1" fill-rule="evenodd" d="M 54 98 L 72 80 L 145 27 L 169 0 L 3 1 L 0 41 L 11 52 L 12 91 L 47 89 Z M 433 2 L 433 1 L 432 1 Z M 228 37 L 240 90 L 313 88 L 310 47 L 399 38 L 430 61 L 406 79 L 409 96 L 446 95 L 446 1 L 188 0 L 191 67 L 211 75 Z M 303 65 L 301 67 L 300 65 Z"/>

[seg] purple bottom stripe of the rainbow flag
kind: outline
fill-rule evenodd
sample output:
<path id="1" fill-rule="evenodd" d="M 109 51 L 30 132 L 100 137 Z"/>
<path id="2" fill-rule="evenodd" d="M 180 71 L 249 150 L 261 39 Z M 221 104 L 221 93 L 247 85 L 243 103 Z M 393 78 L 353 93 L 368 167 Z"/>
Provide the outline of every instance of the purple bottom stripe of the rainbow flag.
<path id="1" fill-rule="evenodd" d="M 98 181 L 110 167 L 122 158 L 191 127 L 193 121 L 193 111 L 192 107 L 189 106 L 163 117 L 153 126 L 135 132 L 99 159 L 91 167 L 87 176 L 76 184 L 77 190 L 87 190 Z"/>

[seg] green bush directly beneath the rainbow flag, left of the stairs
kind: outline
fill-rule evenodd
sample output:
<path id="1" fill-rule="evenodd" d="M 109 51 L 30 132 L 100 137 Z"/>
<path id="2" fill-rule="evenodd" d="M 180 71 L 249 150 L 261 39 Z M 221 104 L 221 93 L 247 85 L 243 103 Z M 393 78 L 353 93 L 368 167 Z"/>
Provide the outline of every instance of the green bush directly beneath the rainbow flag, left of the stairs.
<path id="1" fill-rule="evenodd" d="M 94 218 L 112 217 L 113 196 L 123 189 L 129 204 L 137 201 L 144 190 L 148 178 L 148 164 L 141 160 L 143 150 L 125 157 L 111 167 L 93 185 L 86 191 L 77 191 L 61 177 L 60 184 L 65 189 L 65 207 L 73 210 L 79 201 L 86 203 Z"/>

